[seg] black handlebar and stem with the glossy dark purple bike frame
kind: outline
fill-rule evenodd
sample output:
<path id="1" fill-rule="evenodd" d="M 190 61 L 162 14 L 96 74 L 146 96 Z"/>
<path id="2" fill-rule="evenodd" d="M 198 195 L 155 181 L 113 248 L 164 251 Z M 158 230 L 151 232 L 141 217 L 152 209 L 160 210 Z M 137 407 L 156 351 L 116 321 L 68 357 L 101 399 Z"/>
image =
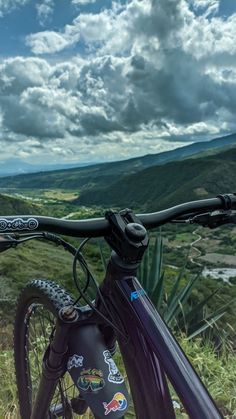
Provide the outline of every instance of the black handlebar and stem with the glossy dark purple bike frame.
<path id="1" fill-rule="evenodd" d="M 199 213 L 203 210 L 222 208 L 229 210 L 232 204 L 236 206 L 235 196 L 227 195 L 227 199 L 225 196 L 223 198 L 221 196 L 211 200 L 182 204 L 156 214 L 144 214 L 140 218 L 149 228 L 154 228 L 174 219 L 175 216 L 188 214 L 191 211 L 196 210 Z M 76 221 L 61 221 L 48 217 L 6 217 L 0 219 L 0 230 L 4 233 L 28 233 L 29 231 L 32 233 L 33 231 L 34 234 L 36 230 L 46 230 L 75 237 L 86 237 L 87 235 L 105 237 L 116 254 L 113 252 L 111 256 L 104 282 L 101 285 L 101 292 L 109 309 L 110 320 L 116 326 L 114 329 L 116 331 L 120 329 L 123 332 L 117 333 L 117 340 L 128 373 L 137 419 L 172 419 L 175 417 L 167 379 L 173 385 L 191 419 L 222 418 L 207 389 L 136 278 L 137 266 L 148 245 L 145 228 L 140 226 L 139 219 L 136 219 L 130 210 L 119 214 L 109 212 L 106 218 L 107 220 L 86 220 L 77 223 Z M 51 240 L 50 237 L 48 239 Z M 75 254 L 74 251 L 71 253 Z M 97 308 L 98 310 L 104 309 L 104 314 L 107 316 L 106 307 L 103 307 L 102 304 L 102 299 L 99 299 L 98 296 Z M 105 320 L 103 324 L 101 318 L 99 320 L 97 313 L 97 318 L 94 317 L 93 322 L 97 321 L 102 327 L 107 326 Z M 48 364 L 49 368 L 46 368 L 42 374 L 34 408 L 35 415 L 33 412 L 32 418 L 45 418 L 42 415 L 38 416 L 37 413 L 42 409 L 41 400 L 44 399 L 45 391 L 48 391 L 48 399 L 44 403 L 44 411 L 46 411 L 55 385 L 66 370 L 66 365 L 63 362 L 69 338 L 66 329 L 62 327 L 62 332 L 65 332 L 64 347 L 62 348 L 61 345 L 61 336 L 58 335 L 57 339 L 57 333 L 55 333 L 53 345 L 56 350 L 53 351 L 52 346 L 52 350 L 50 349 L 46 354 L 49 358 L 51 356 L 51 359 Z M 106 343 L 104 341 L 104 345 Z M 75 343 L 70 343 L 68 348 L 71 349 L 72 355 L 80 350 L 78 347 L 78 351 L 74 351 L 74 345 Z M 95 347 L 91 343 L 91 348 L 96 353 Z M 106 346 L 102 347 L 102 350 L 104 348 Z M 110 349 L 110 347 L 106 349 Z M 106 363 L 104 363 L 104 357 L 101 357 L 101 360 L 103 364 L 99 368 L 103 370 Z M 44 364 L 47 366 L 46 361 L 47 357 L 44 359 Z M 50 371 L 51 365 L 53 370 Z M 107 369 L 109 368 L 106 365 Z M 50 380 L 49 391 L 48 381 Z M 112 393 L 114 394 L 113 391 Z M 111 400 L 111 397 L 107 398 L 108 400 Z M 104 412 L 102 414 L 107 415 Z M 120 416 L 117 415 L 117 417 Z"/>

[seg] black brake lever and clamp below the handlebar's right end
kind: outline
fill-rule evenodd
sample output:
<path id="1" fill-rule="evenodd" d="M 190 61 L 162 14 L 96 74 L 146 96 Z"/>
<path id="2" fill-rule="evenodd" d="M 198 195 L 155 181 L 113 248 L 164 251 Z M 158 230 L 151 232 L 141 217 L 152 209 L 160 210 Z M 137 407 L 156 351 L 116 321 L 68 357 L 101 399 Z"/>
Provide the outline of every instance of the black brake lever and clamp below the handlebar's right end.
<path id="1" fill-rule="evenodd" d="M 189 223 L 214 229 L 224 224 L 236 224 L 236 213 L 232 211 L 207 212 L 190 218 Z"/>

